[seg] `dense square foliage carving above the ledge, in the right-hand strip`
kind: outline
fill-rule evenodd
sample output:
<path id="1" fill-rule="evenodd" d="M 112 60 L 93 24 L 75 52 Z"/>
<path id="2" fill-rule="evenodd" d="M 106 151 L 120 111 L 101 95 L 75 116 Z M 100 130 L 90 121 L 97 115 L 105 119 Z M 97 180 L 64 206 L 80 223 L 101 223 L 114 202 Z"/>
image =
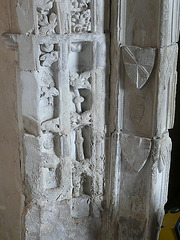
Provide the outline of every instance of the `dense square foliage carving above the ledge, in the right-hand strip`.
<path id="1" fill-rule="evenodd" d="M 70 0 L 71 32 L 91 32 L 91 0 Z"/>

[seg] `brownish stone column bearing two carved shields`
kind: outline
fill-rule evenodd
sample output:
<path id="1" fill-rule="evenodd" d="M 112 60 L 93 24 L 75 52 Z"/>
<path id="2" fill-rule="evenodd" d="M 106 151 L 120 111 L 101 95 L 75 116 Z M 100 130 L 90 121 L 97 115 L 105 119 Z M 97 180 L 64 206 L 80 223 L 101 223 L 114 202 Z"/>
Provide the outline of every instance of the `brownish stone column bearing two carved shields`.
<path id="1" fill-rule="evenodd" d="M 102 239 L 158 238 L 167 199 L 179 1 L 112 2 L 110 158 Z"/>

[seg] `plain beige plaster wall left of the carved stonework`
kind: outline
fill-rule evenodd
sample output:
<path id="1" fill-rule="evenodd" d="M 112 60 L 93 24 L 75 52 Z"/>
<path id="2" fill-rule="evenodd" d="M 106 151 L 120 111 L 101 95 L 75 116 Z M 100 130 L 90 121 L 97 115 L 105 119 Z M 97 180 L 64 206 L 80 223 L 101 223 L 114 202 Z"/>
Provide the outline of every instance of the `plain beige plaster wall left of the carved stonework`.
<path id="1" fill-rule="evenodd" d="M 0 36 L 19 32 L 16 0 L 0 0 Z M 21 180 L 15 52 L 0 37 L 0 239 L 21 239 Z"/>

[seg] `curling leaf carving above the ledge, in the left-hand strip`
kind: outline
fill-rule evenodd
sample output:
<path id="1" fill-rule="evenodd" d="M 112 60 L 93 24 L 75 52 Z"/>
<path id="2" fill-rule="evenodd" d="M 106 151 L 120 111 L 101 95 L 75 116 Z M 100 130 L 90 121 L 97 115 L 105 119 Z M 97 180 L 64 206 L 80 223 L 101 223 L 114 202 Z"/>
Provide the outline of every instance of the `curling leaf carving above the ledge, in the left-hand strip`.
<path id="1" fill-rule="evenodd" d="M 53 3 L 54 0 L 45 0 L 44 4 L 37 8 L 39 34 L 55 33 L 57 15 L 52 12 Z"/>

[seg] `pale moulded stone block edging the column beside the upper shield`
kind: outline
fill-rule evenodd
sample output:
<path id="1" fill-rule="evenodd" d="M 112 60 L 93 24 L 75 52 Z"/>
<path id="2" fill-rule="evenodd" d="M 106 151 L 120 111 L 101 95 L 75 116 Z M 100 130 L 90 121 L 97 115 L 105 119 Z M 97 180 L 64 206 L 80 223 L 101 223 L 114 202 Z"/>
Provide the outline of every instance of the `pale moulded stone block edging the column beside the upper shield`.
<path id="1" fill-rule="evenodd" d="M 159 50 L 157 135 L 173 128 L 174 125 L 177 55 L 177 44 Z"/>

